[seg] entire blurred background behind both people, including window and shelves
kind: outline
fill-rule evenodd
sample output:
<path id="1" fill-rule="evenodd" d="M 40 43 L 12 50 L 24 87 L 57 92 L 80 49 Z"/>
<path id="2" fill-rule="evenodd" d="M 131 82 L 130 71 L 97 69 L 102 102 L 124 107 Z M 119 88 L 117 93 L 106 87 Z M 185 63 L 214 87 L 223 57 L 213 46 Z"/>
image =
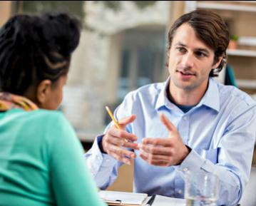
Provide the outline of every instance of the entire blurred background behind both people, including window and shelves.
<path id="1" fill-rule="evenodd" d="M 67 11 L 81 20 L 81 42 L 73 53 L 60 110 L 87 150 L 111 121 L 105 105 L 114 110 L 129 91 L 168 78 L 168 29 L 194 9 L 217 12 L 230 29 L 227 68 L 217 80 L 255 98 L 256 1 L 0 1 L 0 26 L 15 14 L 48 11 Z M 256 165 L 256 155 L 252 164 Z M 117 181 L 110 189 L 131 191 L 132 171 L 121 168 L 126 181 Z M 254 169 L 251 178 L 255 177 Z M 256 185 L 250 191 L 252 187 Z M 247 194 L 246 200 L 255 199 Z"/>

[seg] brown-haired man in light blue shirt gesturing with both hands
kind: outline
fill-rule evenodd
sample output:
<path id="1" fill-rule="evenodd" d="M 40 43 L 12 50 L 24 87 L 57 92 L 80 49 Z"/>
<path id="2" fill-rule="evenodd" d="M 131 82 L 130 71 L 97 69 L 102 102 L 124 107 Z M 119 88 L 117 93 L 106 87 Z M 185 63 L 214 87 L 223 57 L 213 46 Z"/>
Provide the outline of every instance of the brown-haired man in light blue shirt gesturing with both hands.
<path id="1" fill-rule="evenodd" d="M 134 159 L 134 191 L 184 197 L 184 173 L 217 173 L 217 205 L 236 205 L 250 175 L 255 102 L 211 78 L 225 65 L 229 32 L 211 11 L 181 16 L 168 34 L 165 83 L 128 93 L 86 154 L 98 187 Z M 135 114 L 135 115 L 133 115 Z"/>

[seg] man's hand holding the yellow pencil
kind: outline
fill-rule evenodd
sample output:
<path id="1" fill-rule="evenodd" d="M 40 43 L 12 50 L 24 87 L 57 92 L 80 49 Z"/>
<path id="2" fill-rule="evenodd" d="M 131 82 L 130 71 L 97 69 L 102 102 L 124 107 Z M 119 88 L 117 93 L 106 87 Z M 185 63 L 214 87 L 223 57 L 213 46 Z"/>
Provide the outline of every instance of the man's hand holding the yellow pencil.
<path id="1" fill-rule="evenodd" d="M 138 150 L 138 144 L 133 143 L 137 140 L 137 137 L 131 133 L 126 132 L 126 125 L 132 123 L 135 120 L 135 115 L 130 115 L 127 118 L 118 120 L 118 124 L 121 126 L 121 130 L 113 125 L 103 136 L 101 141 L 103 152 L 108 153 L 108 155 L 113 156 L 118 161 L 130 165 L 130 158 L 135 158 L 134 152 L 127 150 L 126 148 L 131 148 L 133 150 Z"/>

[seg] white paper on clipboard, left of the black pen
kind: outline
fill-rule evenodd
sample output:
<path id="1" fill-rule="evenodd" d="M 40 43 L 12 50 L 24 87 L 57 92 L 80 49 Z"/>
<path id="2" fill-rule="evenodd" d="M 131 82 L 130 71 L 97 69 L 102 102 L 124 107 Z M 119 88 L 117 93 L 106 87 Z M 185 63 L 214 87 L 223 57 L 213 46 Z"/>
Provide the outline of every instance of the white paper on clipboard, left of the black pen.
<path id="1" fill-rule="evenodd" d="M 101 190 L 99 192 L 101 199 L 108 205 L 123 205 L 123 206 L 141 206 L 145 202 L 148 194 L 134 192 L 116 192 Z"/>

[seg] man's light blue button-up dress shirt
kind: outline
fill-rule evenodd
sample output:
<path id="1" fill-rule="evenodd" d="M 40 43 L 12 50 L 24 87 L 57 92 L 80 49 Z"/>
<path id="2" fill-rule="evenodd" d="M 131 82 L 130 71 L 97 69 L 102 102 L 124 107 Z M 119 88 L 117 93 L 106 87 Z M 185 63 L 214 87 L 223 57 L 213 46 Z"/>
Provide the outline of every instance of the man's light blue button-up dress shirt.
<path id="1" fill-rule="evenodd" d="M 255 101 L 237 88 L 210 78 L 200 103 L 183 113 L 168 100 L 168 83 L 150 84 L 128 93 L 114 112 L 117 119 L 136 115 L 126 130 L 138 136 L 138 143 L 145 137 L 168 137 L 159 118 L 164 113 L 178 128 L 183 143 L 192 149 L 183 163 L 171 167 L 149 165 L 135 151 L 134 192 L 184 197 L 186 170 L 195 175 L 213 172 L 220 178 L 217 204 L 236 205 L 250 176 L 256 135 Z M 86 160 L 98 187 L 105 189 L 116 179 L 122 163 L 101 153 L 98 141 L 102 136 L 96 138 Z"/>

